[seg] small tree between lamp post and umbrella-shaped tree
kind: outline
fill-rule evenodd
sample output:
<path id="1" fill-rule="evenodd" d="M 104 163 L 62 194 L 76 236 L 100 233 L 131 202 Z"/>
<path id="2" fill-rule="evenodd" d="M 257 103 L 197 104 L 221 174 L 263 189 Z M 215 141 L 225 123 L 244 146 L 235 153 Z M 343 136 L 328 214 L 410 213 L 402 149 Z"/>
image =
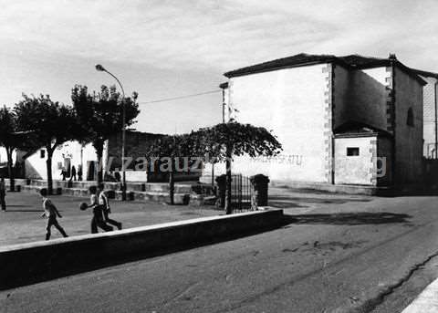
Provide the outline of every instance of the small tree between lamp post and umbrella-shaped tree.
<path id="1" fill-rule="evenodd" d="M 169 135 L 162 136 L 151 144 L 151 147 L 146 151 L 146 158 L 150 162 L 154 162 L 153 159 L 159 159 L 163 162 L 162 165 L 167 165 L 167 171 L 169 172 L 169 197 L 171 204 L 174 204 L 174 191 L 175 191 L 175 171 L 176 163 L 181 162 L 181 158 L 190 160 L 192 154 L 193 141 L 190 134 L 182 135 Z M 164 163 L 167 161 L 167 164 Z M 188 162 L 184 162 L 184 166 L 189 166 Z"/>

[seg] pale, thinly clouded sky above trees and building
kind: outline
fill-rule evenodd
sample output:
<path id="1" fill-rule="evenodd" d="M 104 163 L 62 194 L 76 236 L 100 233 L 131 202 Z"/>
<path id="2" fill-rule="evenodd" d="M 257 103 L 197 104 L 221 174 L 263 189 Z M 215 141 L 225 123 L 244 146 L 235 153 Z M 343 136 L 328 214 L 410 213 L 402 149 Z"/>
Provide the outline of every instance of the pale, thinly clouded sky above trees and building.
<path id="1" fill-rule="evenodd" d="M 22 93 L 71 104 L 75 84 L 139 93 L 137 130 L 222 120 L 223 73 L 297 53 L 395 53 L 438 72 L 438 1 L 0 0 L 0 105 Z M 199 97 L 147 103 L 185 95 Z"/>

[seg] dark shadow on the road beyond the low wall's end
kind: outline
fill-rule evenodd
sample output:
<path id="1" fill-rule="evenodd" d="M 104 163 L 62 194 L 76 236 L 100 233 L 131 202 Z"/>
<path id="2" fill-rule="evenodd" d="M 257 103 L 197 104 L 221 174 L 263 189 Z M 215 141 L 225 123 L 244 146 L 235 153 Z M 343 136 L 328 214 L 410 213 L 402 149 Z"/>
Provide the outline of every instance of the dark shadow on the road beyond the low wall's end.
<path id="1" fill-rule="evenodd" d="M 360 224 L 394 224 L 410 223 L 412 218 L 408 214 L 394 213 L 341 213 L 341 214 L 285 214 L 287 224 L 334 224 L 334 225 L 360 225 Z"/>

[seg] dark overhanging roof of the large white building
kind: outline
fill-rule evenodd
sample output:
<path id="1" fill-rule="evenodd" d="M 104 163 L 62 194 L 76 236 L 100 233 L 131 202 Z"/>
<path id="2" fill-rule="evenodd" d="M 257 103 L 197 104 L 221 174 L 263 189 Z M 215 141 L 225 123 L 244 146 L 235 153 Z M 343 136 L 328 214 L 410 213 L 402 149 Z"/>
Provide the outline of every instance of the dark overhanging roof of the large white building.
<path id="1" fill-rule="evenodd" d="M 344 66 L 345 68 L 352 69 L 389 67 L 393 63 L 412 78 L 417 79 L 422 85 L 426 84 L 426 82 L 417 75 L 415 70 L 403 65 L 399 60 L 397 60 L 395 55 L 391 55 L 388 58 L 380 58 L 363 57 L 360 55 L 336 57 L 334 55 L 309 55 L 307 53 L 300 53 L 292 57 L 277 58 L 272 61 L 255 64 L 250 67 L 238 68 L 224 73 L 224 76 L 227 78 L 233 78 L 280 68 L 295 68 L 322 63 L 335 63 Z"/>

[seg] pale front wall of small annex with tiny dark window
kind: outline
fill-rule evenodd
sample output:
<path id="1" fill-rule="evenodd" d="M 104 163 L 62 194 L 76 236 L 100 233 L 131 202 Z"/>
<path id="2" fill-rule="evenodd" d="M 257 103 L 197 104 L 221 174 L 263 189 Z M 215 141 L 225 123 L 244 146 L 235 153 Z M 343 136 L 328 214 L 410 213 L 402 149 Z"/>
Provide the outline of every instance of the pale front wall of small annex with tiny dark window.
<path id="1" fill-rule="evenodd" d="M 335 183 L 375 184 L 372 180 L 373 151 L 377 138 L 335 138 Z M 358 156 L 348 156 L 347 148 L 359 148 Z"/>

